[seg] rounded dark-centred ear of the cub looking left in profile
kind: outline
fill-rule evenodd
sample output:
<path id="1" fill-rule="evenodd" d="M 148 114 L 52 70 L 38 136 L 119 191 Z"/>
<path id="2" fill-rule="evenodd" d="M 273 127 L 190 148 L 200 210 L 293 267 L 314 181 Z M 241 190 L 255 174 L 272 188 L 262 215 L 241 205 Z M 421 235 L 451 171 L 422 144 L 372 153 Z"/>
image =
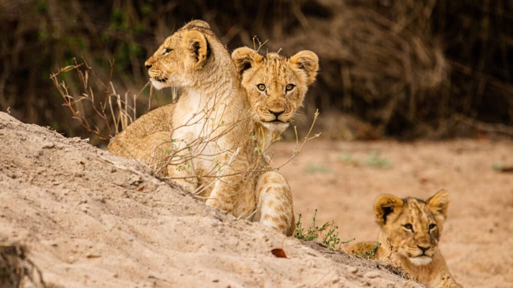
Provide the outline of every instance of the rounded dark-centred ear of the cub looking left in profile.
<path id="1" fill-rule="evenodd" d="M 185 31 L 183 44 L 185 50 L 189 52 L 189 57 L 185 59 L 186 65 L 193 69 L 202 68 L 207 61 L 210 49 L 205 35 L 196 30 Z"/>

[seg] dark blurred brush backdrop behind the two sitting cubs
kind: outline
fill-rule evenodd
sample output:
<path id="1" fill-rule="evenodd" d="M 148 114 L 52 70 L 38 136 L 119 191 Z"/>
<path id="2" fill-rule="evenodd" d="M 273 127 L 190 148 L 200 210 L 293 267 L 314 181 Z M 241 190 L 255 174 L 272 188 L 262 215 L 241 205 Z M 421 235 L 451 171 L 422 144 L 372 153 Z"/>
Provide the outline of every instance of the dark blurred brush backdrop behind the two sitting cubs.
<path id="1" fill-rule="evenodd" d="M 301 129 L 319 108 L 315 130 L 334 139 L 513 135 L 511 0 L 0 0 L 0 111 L 103 146 L 62 106 L 50 74 L 76 58 L 117 93 L 139 94 L 144 60 L 191 19 L 210 23 L 230 51 L 257 35 L 264 51 L 317 53 Z M 80 95 L 73 75 L 60 80 Z M 149 95 L 140 93 L 137 115 Z M 152 107 L 170 101 L 159 91 Z M 97 118 L 86 105 L 80 112 Z"/>

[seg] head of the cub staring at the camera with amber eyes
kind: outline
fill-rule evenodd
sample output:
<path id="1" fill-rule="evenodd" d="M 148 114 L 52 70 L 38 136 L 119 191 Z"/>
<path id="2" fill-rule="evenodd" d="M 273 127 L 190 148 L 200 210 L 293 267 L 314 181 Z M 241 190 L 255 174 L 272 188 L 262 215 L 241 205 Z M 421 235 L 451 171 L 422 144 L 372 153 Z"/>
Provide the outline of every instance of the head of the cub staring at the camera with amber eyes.
<path id="1" fill-rule="evenodd" d="M 290 57 L 242 47 L 231 57 L 241 76 L 257 120 L 270 130 L 283 130 L 303 105 L 308 86 L 315 81 L 319 58 L 311 51 Z"/>

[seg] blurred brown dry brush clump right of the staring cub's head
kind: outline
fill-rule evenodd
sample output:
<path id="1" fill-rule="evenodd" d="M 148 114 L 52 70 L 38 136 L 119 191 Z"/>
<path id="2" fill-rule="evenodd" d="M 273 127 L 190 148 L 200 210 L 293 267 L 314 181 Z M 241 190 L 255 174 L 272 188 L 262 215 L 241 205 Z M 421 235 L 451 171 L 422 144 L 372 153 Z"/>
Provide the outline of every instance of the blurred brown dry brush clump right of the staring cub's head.
<path id="1" fill-rule="evenodd" d="M 406 2 L 377 9 L 368 2 L 319 1 L 324 17 L 310 18 L 283 44 L 270 45 L 289 51 L 308 44 L 319 54 L 314 104 L 363 120 L 367 125 L 352 127 L 354 134 L 402 134 L 420 124 L 423 114 L 441 113 L 443 105 L 436 104 L 443 104 L 440 91 L 448 75 L 442 47 L 427 25 L 434 2 Z M 358 131 L 369 125 L 371 131 Z"/>

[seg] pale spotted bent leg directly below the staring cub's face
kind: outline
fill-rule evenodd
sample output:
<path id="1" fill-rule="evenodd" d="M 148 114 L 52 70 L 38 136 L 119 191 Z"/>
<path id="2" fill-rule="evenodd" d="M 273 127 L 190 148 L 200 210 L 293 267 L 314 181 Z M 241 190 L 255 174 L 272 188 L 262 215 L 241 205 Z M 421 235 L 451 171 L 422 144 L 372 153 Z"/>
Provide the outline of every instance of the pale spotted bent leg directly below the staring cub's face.
<path id="1" fill-rule="evenodd" d="M 283 232 L 294 233 L 292 192 L 287 180 L 274 171 L 262 174 L 257 181 L 257 212 L 255 221 Z"/>

